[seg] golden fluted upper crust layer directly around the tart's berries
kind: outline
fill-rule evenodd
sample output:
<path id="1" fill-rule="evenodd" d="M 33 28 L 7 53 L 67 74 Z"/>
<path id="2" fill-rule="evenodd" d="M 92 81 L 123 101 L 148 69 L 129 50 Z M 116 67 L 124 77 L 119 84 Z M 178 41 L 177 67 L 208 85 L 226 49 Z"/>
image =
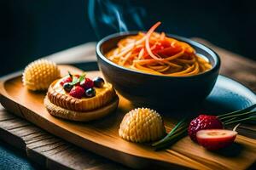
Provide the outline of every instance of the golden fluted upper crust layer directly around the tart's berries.
<path id="1" fill-rule="evenodd" d="M 49 86 L 47 97 L 49 101 L 69 111 L 93 111 L 108 105 L 117 94 L 112 84 L 106 82 L 103 88 L 96 88 L 96 96 L 92 98 L 76 99 L 65 92 L 60 85 L 61 79 L 55 80 Z"/>

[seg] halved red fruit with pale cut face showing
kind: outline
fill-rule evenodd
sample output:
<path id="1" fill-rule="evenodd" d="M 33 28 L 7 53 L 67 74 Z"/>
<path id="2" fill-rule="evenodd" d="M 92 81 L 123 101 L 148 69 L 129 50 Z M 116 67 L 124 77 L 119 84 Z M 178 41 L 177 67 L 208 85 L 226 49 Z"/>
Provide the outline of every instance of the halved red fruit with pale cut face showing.
<path id="1" fill-rule="evenodd" d="M 236 131 L 231 130 L 207 129 L 198 131 L 196 139 L 207 150 L 219 150 L 232 144 L 236 134 Z"/>

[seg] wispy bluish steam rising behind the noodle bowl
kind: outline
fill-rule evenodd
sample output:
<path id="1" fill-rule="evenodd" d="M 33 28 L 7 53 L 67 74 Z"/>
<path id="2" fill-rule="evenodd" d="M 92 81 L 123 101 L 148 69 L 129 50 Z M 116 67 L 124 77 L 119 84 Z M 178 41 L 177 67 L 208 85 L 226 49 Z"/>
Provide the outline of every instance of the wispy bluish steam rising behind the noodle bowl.
<path id="1" fill-rule="evenodd" d="M 107 31 L 128 31 L 125 16 L 136 24 L 137 29 L 143 30 L 140 17 L 145 15 L 143 8 L 131 7 L 129 0 L 120 2 L 125 4 L 121 6 L 111 0 L 89 0 L 89 19 L 97 37 L 102 37 L 102 32 L 106 34 Z"/>

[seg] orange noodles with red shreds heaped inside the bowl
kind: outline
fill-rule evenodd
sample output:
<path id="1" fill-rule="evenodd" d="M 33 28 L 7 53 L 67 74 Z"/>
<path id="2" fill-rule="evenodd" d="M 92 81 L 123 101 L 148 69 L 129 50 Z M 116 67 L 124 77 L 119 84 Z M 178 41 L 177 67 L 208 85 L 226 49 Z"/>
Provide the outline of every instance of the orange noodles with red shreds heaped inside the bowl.
<path id="1" fill-rule="evenodd" d="M 121 39 L 117 48 L 108 52 L 108 59 L 126 68 L 170 77 L 192 76 L 212 68 L 188 43 L 155 32 L 158 26 L 160 22 L 147 33 Z"/>

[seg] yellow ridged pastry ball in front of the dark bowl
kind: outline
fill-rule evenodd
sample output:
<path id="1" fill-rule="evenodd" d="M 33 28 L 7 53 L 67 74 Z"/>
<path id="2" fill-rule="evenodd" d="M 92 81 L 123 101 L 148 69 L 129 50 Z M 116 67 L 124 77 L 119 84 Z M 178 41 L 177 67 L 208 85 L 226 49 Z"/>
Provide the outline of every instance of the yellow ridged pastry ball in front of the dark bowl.
<path id="1" fill-rule="evenodd" d="M 161 116 L 148 108 L 128 112 L 119 127 L 119 136 L 137 143 L 155 141 L 166 134 Z"/>

